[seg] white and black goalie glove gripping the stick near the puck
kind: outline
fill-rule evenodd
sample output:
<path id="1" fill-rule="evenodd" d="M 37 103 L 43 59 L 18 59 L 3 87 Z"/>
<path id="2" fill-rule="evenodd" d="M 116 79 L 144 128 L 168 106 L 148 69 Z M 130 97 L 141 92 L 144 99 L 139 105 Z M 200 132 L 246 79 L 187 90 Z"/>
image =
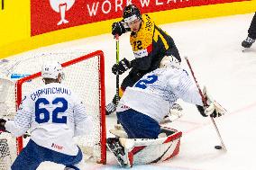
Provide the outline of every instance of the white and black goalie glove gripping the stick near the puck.
<path id="1" fill-rule="evenodd" d="M 197 110 L 202 114 L 202 116 L 211 116 L 213 118 L 220 117 L 224 115 L 226 110 L 219 103 L 216 103 L 212 96 L 207 92 L 206 86 L 203 89 L 203 94 L 206 99 L 206 106 L 197 105 Z"/>

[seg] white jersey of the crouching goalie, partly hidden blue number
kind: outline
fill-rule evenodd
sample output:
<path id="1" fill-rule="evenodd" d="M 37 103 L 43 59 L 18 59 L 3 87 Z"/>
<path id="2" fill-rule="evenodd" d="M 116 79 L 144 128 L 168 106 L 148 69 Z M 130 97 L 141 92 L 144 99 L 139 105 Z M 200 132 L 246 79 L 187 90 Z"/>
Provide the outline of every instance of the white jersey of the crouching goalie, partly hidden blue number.
<path id="1" fill-rule="evenodd" d="M 158 68 L 142 76 L 133 87 L 126 88 L 117 112 L 132 108 L 160 122 L 178 98 L 203 105 L 196 84 L 185 70 Z"/>

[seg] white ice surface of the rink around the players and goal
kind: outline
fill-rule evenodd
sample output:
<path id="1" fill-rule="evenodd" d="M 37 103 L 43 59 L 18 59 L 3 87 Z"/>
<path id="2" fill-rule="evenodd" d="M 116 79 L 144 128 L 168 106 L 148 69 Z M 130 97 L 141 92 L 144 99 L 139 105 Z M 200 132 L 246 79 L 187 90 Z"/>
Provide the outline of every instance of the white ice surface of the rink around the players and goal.
<path id="1" fill-rule="evenodd" d="M 170 124 L 172 128 L 183 132 L 178 156 L 165 163 L 133 166 L 134 170 L 256 169 L 256 45 L 246 52 L 242 52 L 241 47 L 252 16 L 253 13 L 250 13 L 160 25 L 175 40 L 180 55 L 190 59 L 199 84 L 206 85 L 215 100 L 228 111 L 215 120 L 227 152 L 215 149 L 215 145 L 220 145 L 220 140 L 212 121 L 202 117 L 194 105 L 181 102 L 184 115 Z M 103 50 L 106 103 L 111 101 L 115 93 L 115 76 L 111 73 L 115 63 L 115 41 L 110 33 L 35 51 L 55 49 Z M 129 34 L 120 38 L 120 58 L 124 57 L 133 59 Z M 184 58 L 183 65 L 186 67 Z M 114 127 L 114 119 L 115 114 L 107 118 L 107 130 Z M 87 164 L 87 169 L 120 169 L 114 157 L 108 156 L 105 166 Z M 61 170 L 63 166 L 43 163 L 38 168 L 49 169 Z"/>

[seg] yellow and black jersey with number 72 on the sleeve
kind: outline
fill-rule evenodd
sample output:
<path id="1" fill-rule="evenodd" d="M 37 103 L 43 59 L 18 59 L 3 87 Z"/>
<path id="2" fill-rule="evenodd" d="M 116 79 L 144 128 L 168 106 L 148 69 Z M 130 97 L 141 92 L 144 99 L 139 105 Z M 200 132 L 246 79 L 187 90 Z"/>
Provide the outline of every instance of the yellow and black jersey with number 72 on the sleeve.
<path id="1" fill-rule="evenodd" d="M 140 30 L 132 31 L 130 43 L 135 57 L 132 67 L 137 70 L 150 72 L 158 68 L 164 56 L 172 55 L 181 61 L 172 38 L 156 26 L 147 14 L 142 15 Z"/>

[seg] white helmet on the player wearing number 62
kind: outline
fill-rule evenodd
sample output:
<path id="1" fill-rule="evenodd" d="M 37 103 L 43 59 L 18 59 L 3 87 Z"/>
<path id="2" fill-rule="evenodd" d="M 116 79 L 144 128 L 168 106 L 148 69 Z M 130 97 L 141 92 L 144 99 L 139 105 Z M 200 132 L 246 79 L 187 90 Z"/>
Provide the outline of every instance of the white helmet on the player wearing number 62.
<path id="1" fill-rule="evenodd" d="M 59 74 L 61 79 L 64 79 L 63 69 L 57 61 L 46 62 L 41 67 L 41 76 L 43 78 L 57 79 Z"/>

